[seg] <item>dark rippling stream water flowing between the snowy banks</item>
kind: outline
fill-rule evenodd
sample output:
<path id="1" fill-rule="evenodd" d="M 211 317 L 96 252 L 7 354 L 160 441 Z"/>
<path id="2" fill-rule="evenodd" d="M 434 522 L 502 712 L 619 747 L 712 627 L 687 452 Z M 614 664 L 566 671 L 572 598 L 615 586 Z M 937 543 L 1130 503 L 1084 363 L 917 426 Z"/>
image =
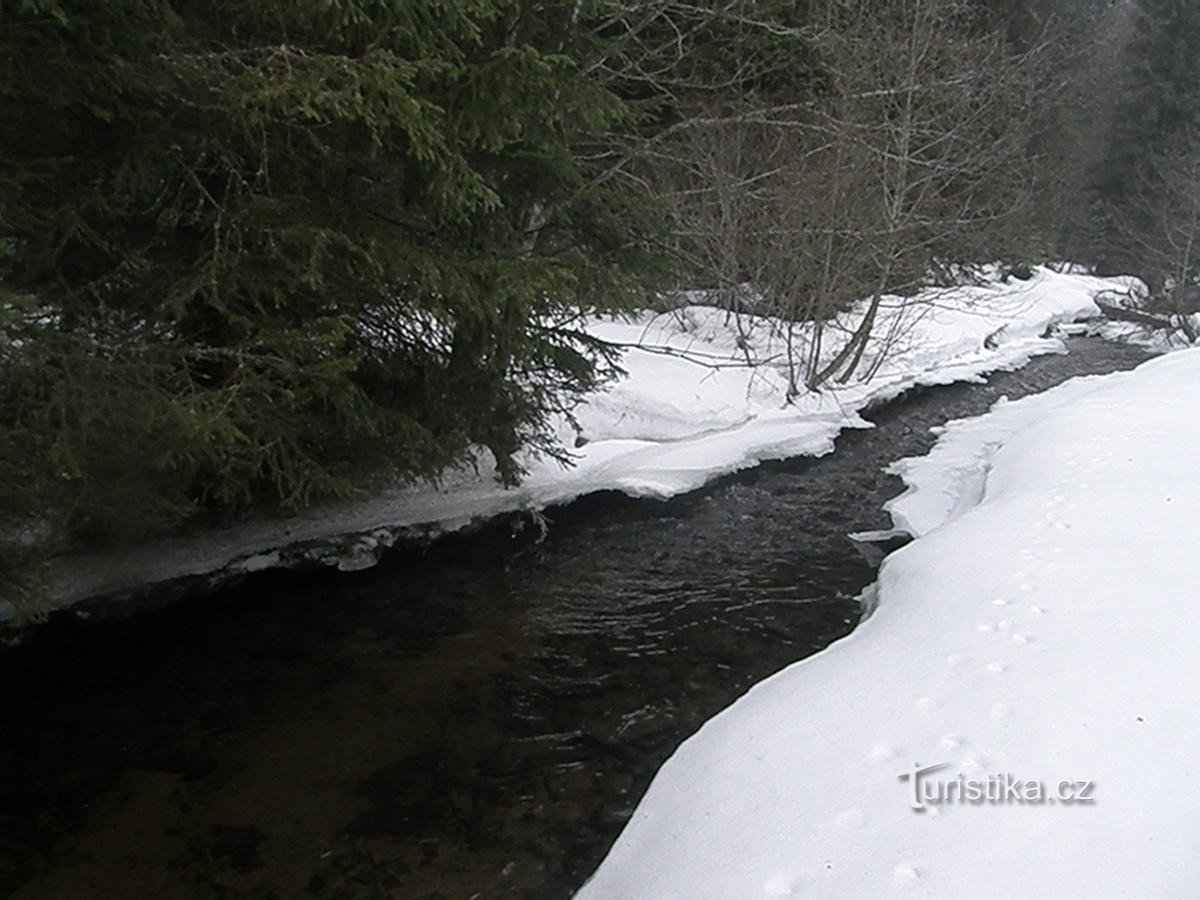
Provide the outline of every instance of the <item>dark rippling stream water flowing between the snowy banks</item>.
<path id="1" fill-rule="evenodd" d="M 566 898 L 656 768 L 850 631 L 932 425 L 1129 368 L 1072 341 L 913 392 L 821 460 L 598 496 L 358 574 L 262 574 L 0 655 L 0 895 Z"/>

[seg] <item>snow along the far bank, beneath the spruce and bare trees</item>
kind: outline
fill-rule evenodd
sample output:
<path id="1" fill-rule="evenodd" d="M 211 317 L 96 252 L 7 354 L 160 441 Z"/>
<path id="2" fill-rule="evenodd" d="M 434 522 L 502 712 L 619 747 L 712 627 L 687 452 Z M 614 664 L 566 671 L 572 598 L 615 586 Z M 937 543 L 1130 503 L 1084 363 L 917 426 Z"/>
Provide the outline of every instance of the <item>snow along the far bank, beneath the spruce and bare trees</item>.
<path id="1" fill-rule="evenodd" d="M 596 491 L 667 498 L 764 460 L 822 455 L 842 428 L 866 426 L 859 412 L 872 403 L 917 385 L 979 379 L 1036 354 L 1062 352 L 1058 338 L 1044 335 L 1060 323 L 1097 316 L 1092 296 L 1129 283 L 1039 269 L 1030 281 L 887 298 L 863 366 L 868 371 L 887 347 L 874 377 L 802 394 L 791 403 L 779 320 L 733 319 L 706 306 L 647 312 L 632 320 L 596 319 L 587 325 L 592 334 L 628 347 L 622 360 L 628 377 L 576 410 L 587 443 L 575 451 L 571 468 L 527 458 L 528 476 L 508 490 L 497 484 L 485 455 L 479 472 L 448 473 L 439 486 L 396 488 L 125 552 L 59 558 L 49 594 L 54 605 L 67 606 L 143 584 L 220 578 L 271 565 L 361 569 L 414 533 L 440 534 Z M 830 329 L 827 356 L 863 308 Z M 809 334 L 798 329 L 793 337 L 803 349 Z M 558 431 L 574 446 L 576 433 L 565 420 Z M 0 620 L 10 613 L 0 605 Z"/>

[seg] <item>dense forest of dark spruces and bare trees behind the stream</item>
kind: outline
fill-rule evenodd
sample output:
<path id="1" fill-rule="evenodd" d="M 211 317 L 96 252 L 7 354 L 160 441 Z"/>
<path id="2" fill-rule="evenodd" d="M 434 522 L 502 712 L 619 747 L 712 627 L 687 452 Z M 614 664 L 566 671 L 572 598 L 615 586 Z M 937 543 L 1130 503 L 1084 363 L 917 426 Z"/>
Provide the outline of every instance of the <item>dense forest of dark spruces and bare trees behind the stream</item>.
<path id="1" fill-rule="evenodd" d="M 516 481 L 613 374 L 581 318 L 680 288 L 816 323 L 799 392 L 886 293 L 1200 271 L 1188 0 L 7 0 L 0 65 L 8 594 L 478 446 Z"/>

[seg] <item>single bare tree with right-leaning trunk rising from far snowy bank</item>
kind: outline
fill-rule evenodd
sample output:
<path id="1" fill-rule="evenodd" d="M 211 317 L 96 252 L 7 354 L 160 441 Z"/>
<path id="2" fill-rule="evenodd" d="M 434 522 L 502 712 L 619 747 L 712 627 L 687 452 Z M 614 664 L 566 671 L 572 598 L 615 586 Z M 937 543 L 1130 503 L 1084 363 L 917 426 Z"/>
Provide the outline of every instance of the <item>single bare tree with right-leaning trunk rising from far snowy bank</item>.
<path id="1" fill-rule="evenodd" d="M 830 35 L 846 112 L 827 124 L 866 157 L 876 278 L 858 328 L 817 372 L 818 384 L 858 370 L 886 293 L 920 287 L 940 258 L 1001 256 L 1027 199 L 1036 53 L 1013 55 L 1000 35 L 979 34 L 973 10 L 962 0 L 862 4 Z"/>

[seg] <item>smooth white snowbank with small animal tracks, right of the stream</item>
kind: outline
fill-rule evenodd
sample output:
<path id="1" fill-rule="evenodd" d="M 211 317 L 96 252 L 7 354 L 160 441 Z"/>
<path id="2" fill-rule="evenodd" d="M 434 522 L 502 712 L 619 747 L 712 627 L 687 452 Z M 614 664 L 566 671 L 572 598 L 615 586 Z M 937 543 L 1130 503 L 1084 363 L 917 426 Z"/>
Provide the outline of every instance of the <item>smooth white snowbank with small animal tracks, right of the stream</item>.
<path id="1" fill-rule="evenodd" d="M 1181 350 L 896 463 L 875 611 L 684 743 L 578 900 L 1194 896 L 1196 384 Z M 913 809 L 941 763 L 1094 803 Z"/>

